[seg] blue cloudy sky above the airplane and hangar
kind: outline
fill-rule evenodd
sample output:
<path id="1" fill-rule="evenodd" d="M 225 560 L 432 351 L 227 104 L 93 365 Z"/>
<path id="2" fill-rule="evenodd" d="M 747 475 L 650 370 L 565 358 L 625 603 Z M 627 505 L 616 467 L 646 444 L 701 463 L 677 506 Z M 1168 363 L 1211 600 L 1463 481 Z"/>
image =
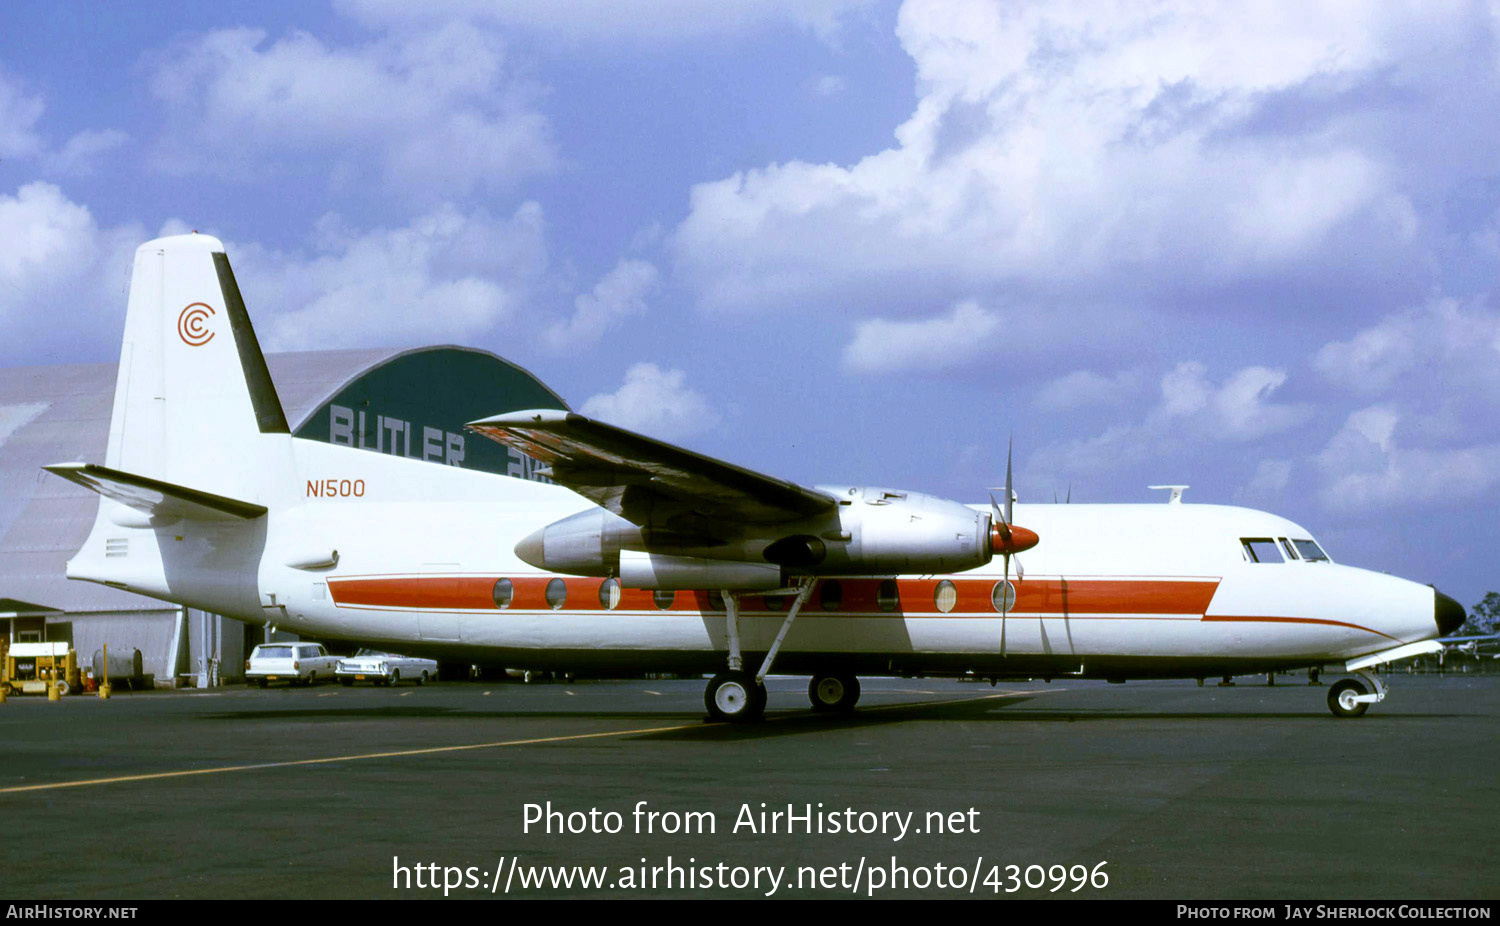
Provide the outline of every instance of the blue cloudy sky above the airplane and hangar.
<path id="1" fill-rule="evenodd" d="M 1248 504 L 1500 587 L 1500 5 L 9 3 L 0 363 L 222 237 L 802 482 Z"/>

